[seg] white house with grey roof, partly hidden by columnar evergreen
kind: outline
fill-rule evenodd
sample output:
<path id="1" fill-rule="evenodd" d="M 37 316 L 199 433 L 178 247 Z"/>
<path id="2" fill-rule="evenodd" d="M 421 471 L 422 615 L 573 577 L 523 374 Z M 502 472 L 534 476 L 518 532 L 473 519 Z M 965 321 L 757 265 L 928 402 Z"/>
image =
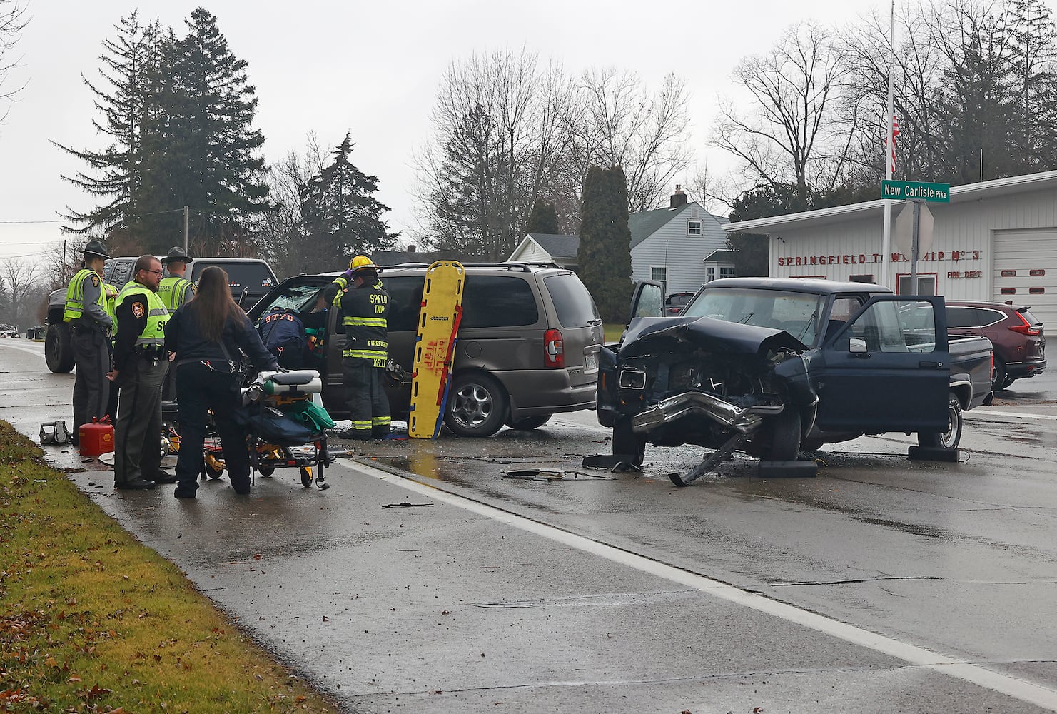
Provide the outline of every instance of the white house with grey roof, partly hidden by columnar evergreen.
<path id="1" fill-rule="evenodd" d="M 734 264 L 715 260 L 718 251 L 726 250 L 723 225 L 726 218 L 712 216 L 698 202 L 687 202 L 686 194 L 675 186 L 667 208 L 632 214 L 631 274 L 636 280 L 656 280 L 665 293 L 694 292 L 708 277 L 705 259 L 712 262 L 713 277 L 720 269 Z M 576 270 L 578 236 L 528 234 L 511 254 L 508 260 L 520 262 L 556 262 Z M 725 257 L 725 256 L 724 256 Z"/>

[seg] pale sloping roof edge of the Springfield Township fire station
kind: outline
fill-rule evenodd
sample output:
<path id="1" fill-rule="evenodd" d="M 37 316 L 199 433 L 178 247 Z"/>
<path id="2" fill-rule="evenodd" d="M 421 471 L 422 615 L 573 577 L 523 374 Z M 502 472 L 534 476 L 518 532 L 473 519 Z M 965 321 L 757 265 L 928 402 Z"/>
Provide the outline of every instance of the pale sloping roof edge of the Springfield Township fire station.
<path id="1" fill-rule="evenodd" d="M 1010 194 L 1022 194 L 1033 190 L 1057 189 L 1057 171 L 1042 171 L 1041 173 L 1028 173 L 1025 176 L 1013 176 L 1007 179 L 995 179 L 994 181 L 982 181 L 970 183 L 964 186 L 952 186 L 950 189 L 950 202 L 963 203 L 966 201 L 979 201 L 981 199 L 997 198 Z M 879 193 L 879 189 L 878 189 Z M 892 204 L 902 204 L 906 201 L 892 201 Z M 773 216 L 771 218 L 756 218 L 749 221 L 738 221 L 737 223 L 726 223 L 723 230 L 727 233 L 763 233 L 772 234 L 786 228 L 800 228 L 811 225 L 824 225 L 827 223 L 839 223 L 849 219 L 868 218 L 873 214 L 880 215 L 885 208 L 884 199 L 876 201 L 865 201 L 863 203 L 852 203 L 846 206 L 834 206 L 833 208 L 819 208 L 818 210 L 805 210 L 799 214 L 787 214 L 785 216 Z"/>

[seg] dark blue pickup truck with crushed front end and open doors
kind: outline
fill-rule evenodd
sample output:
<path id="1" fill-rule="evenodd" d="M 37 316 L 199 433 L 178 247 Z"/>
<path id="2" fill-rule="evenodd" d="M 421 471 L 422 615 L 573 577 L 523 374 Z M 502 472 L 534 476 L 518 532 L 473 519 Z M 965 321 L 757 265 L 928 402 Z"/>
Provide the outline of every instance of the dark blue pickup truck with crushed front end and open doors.
<path id="1" fill-rule="evenodd" d="M 860 282 L 723 278 L 674 317 L 641 283 L 599 353 L 598 421 L 613 453 L 735 444 L 765 461 L 885 432 L 957 447 L 962 411 L 991 400 L 991 344 L 948 337 L 944 299 Z"/>

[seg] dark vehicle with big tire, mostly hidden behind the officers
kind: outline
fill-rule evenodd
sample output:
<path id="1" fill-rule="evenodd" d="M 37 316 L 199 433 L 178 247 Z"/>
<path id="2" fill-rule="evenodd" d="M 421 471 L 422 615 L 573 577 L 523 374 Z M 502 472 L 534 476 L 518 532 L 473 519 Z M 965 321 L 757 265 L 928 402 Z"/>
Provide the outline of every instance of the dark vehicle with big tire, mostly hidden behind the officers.
<path id="1" fill-rule="evenodd" d="M 103 281 L 120 290 L 132 277 L 132 268 L 138 256 L 107 260 L 103 270 Z M 202 271 L 209 266 L 219 266 L 227 271 L 231 297 L 243 308 L 249 308 L 279 282 L 272 268 L 263 260 L 256 258 L 194 258 L 190 264 L 189 279 L 198 282 Z M 168 275 L 168 271 L 166 271 L 166 275 Z M 62 322 L 66 293 L 67 288 L 63 286 L 52 291 L 48 296 L 44 361 L 48 363 L 48 369 L 56 373 L 68 372 L 73 369 L 74 365 L 73 348 L 70 346 L 70 328 Z"/>

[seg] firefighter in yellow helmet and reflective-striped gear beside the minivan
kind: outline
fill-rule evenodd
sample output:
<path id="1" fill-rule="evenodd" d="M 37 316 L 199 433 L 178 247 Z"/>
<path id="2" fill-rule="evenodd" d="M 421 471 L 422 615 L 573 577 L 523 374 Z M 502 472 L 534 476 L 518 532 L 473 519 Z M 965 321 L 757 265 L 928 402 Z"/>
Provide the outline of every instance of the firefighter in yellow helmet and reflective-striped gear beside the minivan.
<path id="1" fill-rule="evenodd" d="M 389 293 L 378 279 L 378 267 L 366 255 L 357 255 L 349 261 L 349 270 L 323 289 L 322 300 L 334 305 L 346 334 L 341 372 L 352 429 L 341 436 L 384 437 L 390 422 L 383 387 L 389 356 Z"/>

